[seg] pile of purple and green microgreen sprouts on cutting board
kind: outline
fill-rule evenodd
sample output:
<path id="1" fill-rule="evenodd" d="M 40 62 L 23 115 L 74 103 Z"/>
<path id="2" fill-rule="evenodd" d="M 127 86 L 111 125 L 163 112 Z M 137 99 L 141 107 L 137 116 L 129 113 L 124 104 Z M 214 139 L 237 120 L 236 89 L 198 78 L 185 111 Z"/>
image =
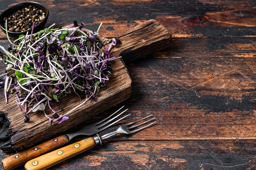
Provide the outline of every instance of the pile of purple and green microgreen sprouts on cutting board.
<path id="1" fill-rule="evenodd" d="M 61 123 L 90 98 L 97 101 L 96 94 L 107 85 L 112 71 L 109 61 L 120 58 L 109 55 L 116 38 L 102 49 L 97 38 L 99 29 L 87 33 L 83 23 L 78 25 L 76 21 L 67 29 L 53 26 L 33 33 L 33 25 L 32 33 L 21 35 L 14 41 L 16 44 L 10 41 L 8 49 L 0 46 L 0 56 L 7 64 L 6 73 L 0 76 L 0 87 L 4 87 L 6 103 L 7 93 L 15 94 L 25 122 L 29 121 L 29 113 L 43 111 L 51 124 Z M 54 110 L 51 104 L 69 93 L 84 101 L 61 115 L 62 108 Z M 47 107 L 52 113 L 46 112 Z"/>

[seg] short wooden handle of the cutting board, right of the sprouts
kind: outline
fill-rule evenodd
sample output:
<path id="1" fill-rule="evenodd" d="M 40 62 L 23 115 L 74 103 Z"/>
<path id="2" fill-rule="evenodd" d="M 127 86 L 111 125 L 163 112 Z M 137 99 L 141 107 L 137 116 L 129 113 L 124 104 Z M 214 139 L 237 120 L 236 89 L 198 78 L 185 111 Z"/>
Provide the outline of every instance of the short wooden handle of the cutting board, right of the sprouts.
<path id="1" fill-rule="evenodd" d="M 111 51 L 119 52 L 124 63 L 127 64 L 168 47 L 171 44 L 171 33 L 156 20 L 148 20 L 130 29 L 118 39 L 121 42 Z"/>

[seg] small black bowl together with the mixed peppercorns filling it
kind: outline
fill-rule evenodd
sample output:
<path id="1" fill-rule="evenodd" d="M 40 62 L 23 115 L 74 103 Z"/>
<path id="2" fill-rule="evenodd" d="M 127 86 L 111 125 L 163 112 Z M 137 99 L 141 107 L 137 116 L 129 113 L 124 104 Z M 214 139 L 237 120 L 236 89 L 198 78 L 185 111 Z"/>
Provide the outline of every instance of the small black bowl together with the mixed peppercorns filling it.
<path id="1" fill-rule="evenodd" d="M 6 20 L 8 36 L 18 38 L 44 29 L 49 16 L 49 10 L 38 2 L 22 2 L 3 11 L 0 14 L 0 28 L 6 33 Z"/>

